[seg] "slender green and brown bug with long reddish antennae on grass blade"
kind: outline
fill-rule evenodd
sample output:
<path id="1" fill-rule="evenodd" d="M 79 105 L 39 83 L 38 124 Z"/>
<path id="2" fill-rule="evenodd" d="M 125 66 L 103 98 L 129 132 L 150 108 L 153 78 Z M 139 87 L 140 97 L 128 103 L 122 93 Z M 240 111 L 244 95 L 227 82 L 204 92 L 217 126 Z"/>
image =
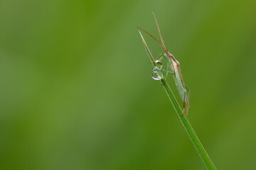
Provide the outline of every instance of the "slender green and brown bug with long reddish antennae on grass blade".
<path id="1" fill-rule="evenodd" d="M 154 19 L 156 21 L 156 26 L 157 26 L 157 29 L 159 31 L 159 36 L 160 36 L 161 42 L 159 42 L 159 40 L 156 40 L 156 38 L 154 38 L 150 33 L 146 32 L 146 30 L 144 30 L 142 28 L 139 28 L 139 27 L 138 28 L 140 30 L 142 30 L 144 33 L 148 34 L 156 42 L 158 42 L 159 45 L 161 45 L 162 49 L 164 50 L 164 54 L 161 54 L 161 58 L 159 60 L 152 60 L 152 62 L 161 61 L 163 58 L 166 60 L 167 69 L 163 70 L 164 72 L 166 72 L 166 77 L 165 77 L 164 83 L 167 79 L 168 73 L 173 74 L 174 81 L 175 81 L 176 87 L 178 89 L 178 94 L 179 94 L 179 96 L 181 96 L 181 99 L 183 101 L 183 112 L 182 112 L 181 115 L 183 115 L 183 113 L 185 112 L 185 108 L 186 108 L 186 117 L 188 117 L 188 108 L 190 108 L 189 98 L 190 98 L 191 91 L 190 91 L 190 89 L 188 89 L 188 86 L 186 86 L 186 84 L 183 81 L 183 77 L 182 77 L 182 74 L 181 74 L 181 66 L 180 66 L 178 60 L 176 60 L 174 55 L 172 55 L 169 52 L 169 50 L 167 50 L 167 47 L 164 44 L 164 40 L 161 36 L 159 25 L 157 23 L 156 16 L 154 15 L 154 13 L 153 13 L 153 16 L 154 16 Z M 142 34 L 141 34 L 141 36 L 142 36 Z M 142 37 L 142 41 L 144 42 L 144 46 L 146 47 L 146 52 L 148 53 L 149 57 L 151 57 L 151 59 L 153 59 L 153 57 L 151 55 L 151 52 L 149 51 L 149 48 L 147 47 L 146 42 L 145 42 L 143 37 Z"/>

